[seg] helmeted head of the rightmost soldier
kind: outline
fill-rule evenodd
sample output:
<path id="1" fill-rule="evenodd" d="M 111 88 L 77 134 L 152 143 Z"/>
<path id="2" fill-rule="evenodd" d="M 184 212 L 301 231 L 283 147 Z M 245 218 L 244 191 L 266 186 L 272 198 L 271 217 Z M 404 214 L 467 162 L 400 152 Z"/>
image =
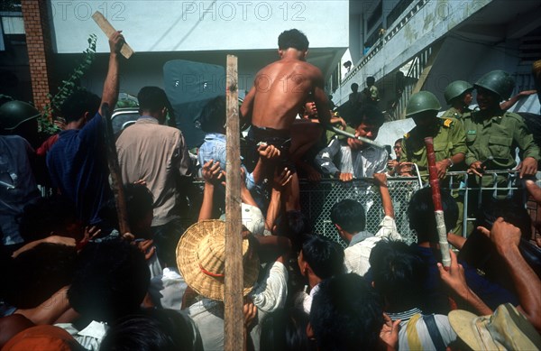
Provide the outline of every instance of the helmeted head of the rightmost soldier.
<path id="1" fill-rule="evenodd" d="M 481 111 L 500 109 L 500 101 L 507 100 L 515 88 L 515 80 L 508 72 L 497 69 L 482 76 L 473 85 L 477 89 L 477 104 Z"/>

